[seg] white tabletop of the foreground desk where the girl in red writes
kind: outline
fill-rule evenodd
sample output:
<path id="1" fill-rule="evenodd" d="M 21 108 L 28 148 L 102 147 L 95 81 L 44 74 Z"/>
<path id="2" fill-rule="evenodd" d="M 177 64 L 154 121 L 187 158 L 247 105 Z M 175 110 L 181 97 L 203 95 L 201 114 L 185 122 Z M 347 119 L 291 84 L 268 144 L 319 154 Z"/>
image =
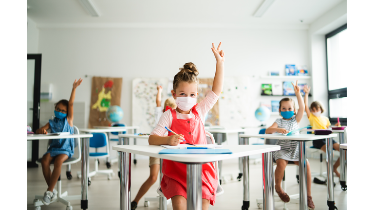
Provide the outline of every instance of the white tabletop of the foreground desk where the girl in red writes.
<path id="1" fill-rule="evenodd" d="M 218 160 L 231 159 L 236 157 L 245 157 L 267 152 L 273 152 L 281 149 L 279 145 L 224 145 L 222 149 L 231 150 L 232 154 L 158 154 L 165 149 L 158 145 L 116 145 L 112 147 L 118 152 L 128 152 L 150 157 L 158 157 L 178 162 L 206 163 Z M 221 149 L 221 148 L 220 148 Z M 218 149 L 216 149 L 218 150 Z"/>

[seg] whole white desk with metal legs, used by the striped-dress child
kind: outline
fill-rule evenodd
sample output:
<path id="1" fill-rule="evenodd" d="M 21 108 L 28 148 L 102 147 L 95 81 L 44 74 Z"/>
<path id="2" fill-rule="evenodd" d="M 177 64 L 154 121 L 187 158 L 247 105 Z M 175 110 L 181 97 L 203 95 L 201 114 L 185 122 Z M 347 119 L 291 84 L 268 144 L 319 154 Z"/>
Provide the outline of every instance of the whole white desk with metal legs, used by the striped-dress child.
<path id="1" fill-rule="evenodd" d="M 307 186 L 306 186 L 306 141 L 326 139 L 326 162 L 327 162 L 327 204 L 334 209 L 334 170 L 333 170 L 333 138 L 337 134 L 330 135 L 314 135 L 314 134 L 299 134 L 292 136 L 272 135 L 272 134 L 254 134 L 254 135 L 239 135 L 244 139 L 244 144 L 249 143 L 249 138 L 263 138 L 263 139 L 280 139 L 280 140 L 295 140 L 299 141 L 299 205 L 300 210 L 308 210 Z M 243 162 L 245 163 L 245 158 Z M 244 182 L 247 177 L 244 177 Z M 249 200 L 249 197 L 248 197 Z"/>

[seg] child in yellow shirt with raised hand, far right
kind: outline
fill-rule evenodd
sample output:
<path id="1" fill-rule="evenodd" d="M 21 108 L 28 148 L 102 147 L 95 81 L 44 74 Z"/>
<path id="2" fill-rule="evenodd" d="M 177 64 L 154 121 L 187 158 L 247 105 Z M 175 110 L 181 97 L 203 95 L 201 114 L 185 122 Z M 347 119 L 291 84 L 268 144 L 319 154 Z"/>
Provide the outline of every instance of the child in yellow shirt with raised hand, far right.
<path id="1" fill-rule="evenodd" d="M 310 105 L 310 109 L 308 107 L 308 96 L 309 91 L 311 87 L 308 87 L 307 85 L 304 86 L 304 92 L 305 92 L 305 111 L 306 115 L 308 116 L 309 123 L 312 126 L 312 129 L 328 129 L 331 125 L 329 118 L 325 116 L 321 116 L 323 113 L 323 106 L 320 102 L 315 101 Z M 335 125 L 340 125 L 340 123 L 336 123 Z M 317 149 L 321 149 L 323 152 L 326 152 L 326 140 L 320 139 L 320 140 L 314 140 L 313 146 Z M 333 148 L 337 151 L 339 151 L 339 143 L 333 140 Z M 337 175 L 337 177 L 340 178 L 340 173 L 337 171 L 337 167 L 340 165 L 340 157 L 337 159 L 337 162 L 334 164 L 334 172 Z"/>

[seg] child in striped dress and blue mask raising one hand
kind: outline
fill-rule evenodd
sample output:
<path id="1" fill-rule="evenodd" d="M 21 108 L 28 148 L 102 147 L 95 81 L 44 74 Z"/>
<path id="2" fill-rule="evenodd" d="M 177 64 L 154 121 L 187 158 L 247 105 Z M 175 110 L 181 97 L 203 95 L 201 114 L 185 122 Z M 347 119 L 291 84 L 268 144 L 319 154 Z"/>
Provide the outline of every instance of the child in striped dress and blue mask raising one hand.
<path id="1" fill-rule="evenodd" d="M 266 134 L 272 133 L 282 133 L 286 134 L 290 131 L 296 130 L 299 128 L 299 123 L 304 114 L 305 105 L 302 100 L 300 93 L 300 87 L 298 86 L 298 81 L 294 85 L 295 95 L 298 99 L 299 111 L 296 112 L 295 102 L 291 98 L 283 98 L 279 102 L 279 113 L 282 118 L 279 118 L 266 129 Z M 298 134 L 297 131 L 295 134 Z M 277 162 L 277 168 L 274 171 L 275 177 L 275 192 L 278 193 L 279 197 L 283 202 L 289 202 L 290 197 L 286 192 L 281 188 L 281 181 L 283 179 L 284 170 L 289 161 L 293 161 L 296 165 L 299 165 L 299 143 L 298 141 L 292 140 L 277 140 L 276 145 L 281 146 L 281 150 L 273 152 L 274 159 Z M 307 195 L 308 195 L 308 209 L 314 210 L 315 206 L 311 196 L 311 187 L 312 187 L 312 174 L 310 171 L 310 165 L 307 160 L 306 164 L 307 171 Z"/>

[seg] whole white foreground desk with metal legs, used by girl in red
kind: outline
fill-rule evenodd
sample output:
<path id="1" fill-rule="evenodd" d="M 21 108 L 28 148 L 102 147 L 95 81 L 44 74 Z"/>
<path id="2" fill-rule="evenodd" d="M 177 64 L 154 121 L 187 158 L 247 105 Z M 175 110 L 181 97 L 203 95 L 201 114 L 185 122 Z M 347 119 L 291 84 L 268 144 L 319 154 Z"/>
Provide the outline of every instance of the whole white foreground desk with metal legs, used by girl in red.
<path id="1" fill-rule="evenodd" d="M 168 159 L 187 164 L 187 210 L 202 209 L 202 164 L 231 158 L 262 154 L 263 171 L 263 209 L 274 210 L 274 173 L 273 151 L 280 150 L 278 145 L 224 145 L 223 149 L 231 150 L 232 154 L 159 154 L 165 149 L 156 145 L 118 145 L 113 150 L 120 153 L 120 210 L 130 210 L 131 207 L 131 159 L 130 154 L 136 153 L 160 159 Z M 217 150 L 217 149 L 216 149 Z M 245 192 L 244 192 L 245 193 Z M 249 193 L 249 192 L 247 192 Z"/>

